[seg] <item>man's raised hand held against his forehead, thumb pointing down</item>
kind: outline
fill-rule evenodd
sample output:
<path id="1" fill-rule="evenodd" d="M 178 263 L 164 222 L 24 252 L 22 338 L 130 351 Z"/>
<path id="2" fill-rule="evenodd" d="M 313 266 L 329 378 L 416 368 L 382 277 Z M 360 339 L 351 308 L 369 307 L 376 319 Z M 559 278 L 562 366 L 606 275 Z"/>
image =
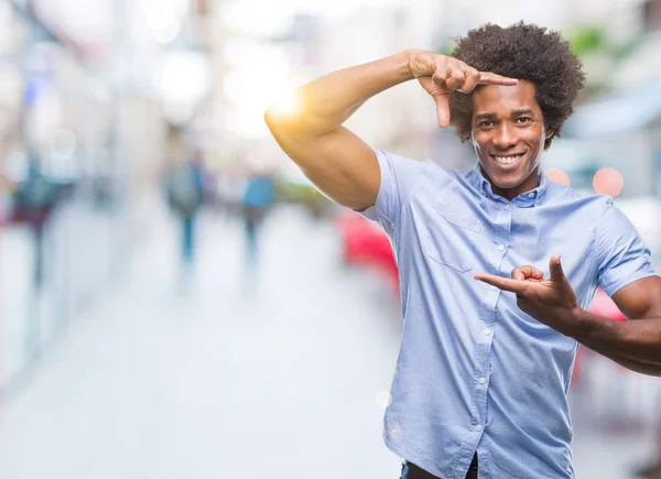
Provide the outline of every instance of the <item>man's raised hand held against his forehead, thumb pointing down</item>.
<path id="1" fill-rule="evenodd" d="M 469 94 L 478 85 L 517 85 L 519 81 L 516 78 L 508 78 L 491 72 L 479 72 L 452 56 L 424 51 L 411 52 L 408 70 L 434 98 L 441 128 L 449 124 L 449 94 L 452 91 Z"/>

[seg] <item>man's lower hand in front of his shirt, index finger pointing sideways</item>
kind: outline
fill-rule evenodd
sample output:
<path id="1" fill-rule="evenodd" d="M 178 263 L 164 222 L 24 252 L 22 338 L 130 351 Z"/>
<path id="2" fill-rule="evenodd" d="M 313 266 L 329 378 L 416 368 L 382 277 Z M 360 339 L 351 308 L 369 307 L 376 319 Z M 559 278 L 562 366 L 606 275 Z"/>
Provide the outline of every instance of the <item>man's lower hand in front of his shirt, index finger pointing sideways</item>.
<path id="1" fill-rule="evenodd" d="M 560 254 L 551 258 L 549 271 L 549 280 L 543 277 L 540 270 L 529 265 L 512 270 L 511 280 L 484 273 L 476 274 L 475 279 L 516 293 L 517 305 L 523 313 L 566 336 L 574 336 L 581 329 L 577 323 L 581 308 L 576 303 L 576 294 L 562 271 Z"/>

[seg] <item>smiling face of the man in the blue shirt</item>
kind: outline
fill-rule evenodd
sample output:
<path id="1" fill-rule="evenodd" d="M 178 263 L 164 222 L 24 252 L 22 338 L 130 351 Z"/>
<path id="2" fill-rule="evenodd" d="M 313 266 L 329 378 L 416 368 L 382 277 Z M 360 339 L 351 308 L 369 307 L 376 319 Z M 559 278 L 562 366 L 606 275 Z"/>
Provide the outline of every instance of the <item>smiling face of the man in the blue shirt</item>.
<path id="1" fill-rule="evenodd" d="M 494 193 L 512 199 L 539 186 L 544 129 L 534 85 L 487 85 L 473 94 L 473 145 Z"/>

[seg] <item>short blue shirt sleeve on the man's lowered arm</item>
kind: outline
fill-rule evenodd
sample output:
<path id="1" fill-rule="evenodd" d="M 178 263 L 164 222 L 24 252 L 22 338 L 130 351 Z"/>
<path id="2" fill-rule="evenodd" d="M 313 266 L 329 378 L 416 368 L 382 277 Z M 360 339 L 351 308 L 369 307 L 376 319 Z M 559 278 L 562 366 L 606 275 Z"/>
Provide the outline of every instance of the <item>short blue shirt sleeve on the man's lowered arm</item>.
<path id="1" fill-rule="evenodd" d="M 638 231 L 608 198 L 597 225 L 597 261 L 599 286 L 613 296 L 633 281 L 655 275 L 647 249 Z"/>

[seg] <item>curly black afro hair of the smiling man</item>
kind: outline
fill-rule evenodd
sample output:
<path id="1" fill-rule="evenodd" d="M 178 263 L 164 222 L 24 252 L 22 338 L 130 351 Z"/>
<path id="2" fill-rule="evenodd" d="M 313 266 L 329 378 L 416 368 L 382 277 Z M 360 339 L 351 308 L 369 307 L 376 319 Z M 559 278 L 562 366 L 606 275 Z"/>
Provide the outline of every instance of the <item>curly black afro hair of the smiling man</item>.
<path id="1" fill-rule="evenodd" d="M 559 32 L 523 22 L 508 28 L 487 23 L 456 42 L 453 57 L 480 72 L 528 80 L 535 86 L 535 100 L 546 129 L 553 129 L 544 143 L 544 150 L 548 149 L 574 111 L 573 102 L 585 85 L 581 61 L 568 43 Z M 473 95 L 451 94 L 449 118 L 459 139 L 469 140 Z"/>

